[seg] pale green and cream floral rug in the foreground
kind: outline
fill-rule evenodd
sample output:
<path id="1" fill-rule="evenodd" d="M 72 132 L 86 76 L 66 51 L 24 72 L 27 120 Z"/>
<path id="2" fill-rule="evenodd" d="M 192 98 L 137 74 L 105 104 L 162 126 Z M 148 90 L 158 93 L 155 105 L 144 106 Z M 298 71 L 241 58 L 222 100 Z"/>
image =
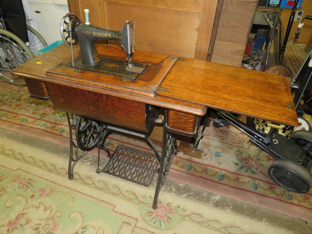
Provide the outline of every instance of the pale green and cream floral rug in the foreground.
<path id="1" fill-rule="evenodd" d="M 292 233 L 166 192 L 153 210 L 153 188 L 66 163 L 0 137 L 0 234 Z"/>

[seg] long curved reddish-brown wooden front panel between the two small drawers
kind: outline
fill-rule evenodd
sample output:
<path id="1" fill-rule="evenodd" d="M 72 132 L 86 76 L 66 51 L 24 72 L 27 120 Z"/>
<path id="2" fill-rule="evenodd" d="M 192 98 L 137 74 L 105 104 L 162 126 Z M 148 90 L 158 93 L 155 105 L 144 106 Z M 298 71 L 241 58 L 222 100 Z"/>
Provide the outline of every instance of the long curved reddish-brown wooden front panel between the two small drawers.
<path id="1" fill-rule="evenodd" d="M 158 116 L 157 108 L 141 102 L 64 85 L 46 85 L 53 105 L 71 114 L 141 132 L 149 132 Z"/>

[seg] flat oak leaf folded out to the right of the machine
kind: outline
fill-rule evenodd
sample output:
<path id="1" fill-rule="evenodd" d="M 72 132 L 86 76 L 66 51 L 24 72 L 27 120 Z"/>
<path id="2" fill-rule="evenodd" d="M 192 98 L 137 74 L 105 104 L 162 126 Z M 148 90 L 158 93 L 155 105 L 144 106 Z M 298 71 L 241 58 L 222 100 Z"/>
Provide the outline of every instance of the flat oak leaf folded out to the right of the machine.
<path id="1" fill-rule="evenodd" d="M 215 109 L 297 126 L 287 78 L 202 60 L 179 58 L 157 94 Z"/>

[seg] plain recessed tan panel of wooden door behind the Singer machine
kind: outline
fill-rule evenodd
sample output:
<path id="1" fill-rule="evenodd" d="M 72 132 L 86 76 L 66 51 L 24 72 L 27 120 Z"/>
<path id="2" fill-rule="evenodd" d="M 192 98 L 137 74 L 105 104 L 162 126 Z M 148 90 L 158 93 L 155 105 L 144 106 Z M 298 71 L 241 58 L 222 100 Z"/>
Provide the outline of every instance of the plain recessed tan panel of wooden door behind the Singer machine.
<path id="1" fill-rule="evenodd" d="M 135 48 L 193 58 L 200 15 L 115 2 L 105 2 L 106 27 L 120 30 L 135 22 Z"/>

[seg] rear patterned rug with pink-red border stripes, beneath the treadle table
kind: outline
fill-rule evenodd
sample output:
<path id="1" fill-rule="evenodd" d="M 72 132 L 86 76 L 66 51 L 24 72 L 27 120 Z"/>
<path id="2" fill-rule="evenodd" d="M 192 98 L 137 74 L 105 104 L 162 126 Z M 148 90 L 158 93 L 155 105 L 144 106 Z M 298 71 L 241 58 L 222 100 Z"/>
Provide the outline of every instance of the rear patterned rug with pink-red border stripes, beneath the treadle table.
<path id="1" fill-rule="evenodd" d="M 5 81 L 0 82 L 0 127 L 69 146 L 66 114 L 51 102 L 30 98 L 26 87 Z M 105 145 L 113 152 L 120 143 L 149 150 L 147 144 L 117 134 L 111 134 Z M 251 145 L 242 132 L 233 127 L 207 128 L 199 148 L 204 151 L 202 159 L 175 156 L 168 177 L 312 221 L 312 193 L 292 193 L 276 185 L 267 173 L 272 158 Z M 74 173 L 80 170 L 75 168 Z"/>

